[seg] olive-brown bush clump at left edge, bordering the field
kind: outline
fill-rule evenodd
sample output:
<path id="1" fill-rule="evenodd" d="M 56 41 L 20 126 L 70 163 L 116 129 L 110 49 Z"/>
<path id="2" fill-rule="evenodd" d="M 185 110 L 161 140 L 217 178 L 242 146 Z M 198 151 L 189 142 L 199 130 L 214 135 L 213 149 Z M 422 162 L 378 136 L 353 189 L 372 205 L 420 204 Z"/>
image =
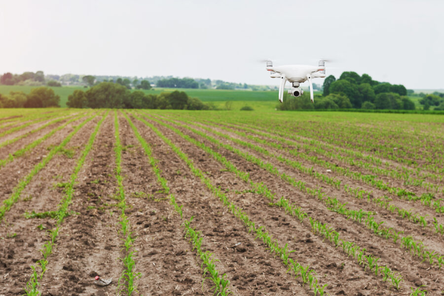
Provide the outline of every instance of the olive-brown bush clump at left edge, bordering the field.
<path id="1" fill-rule="evenodd" d="M 9 95 L 0 94 L 0 108 L 46 108 L 60 107 L 60 96 L 51 88 L 36 87 L 29 94 L 11 91 Z"/>

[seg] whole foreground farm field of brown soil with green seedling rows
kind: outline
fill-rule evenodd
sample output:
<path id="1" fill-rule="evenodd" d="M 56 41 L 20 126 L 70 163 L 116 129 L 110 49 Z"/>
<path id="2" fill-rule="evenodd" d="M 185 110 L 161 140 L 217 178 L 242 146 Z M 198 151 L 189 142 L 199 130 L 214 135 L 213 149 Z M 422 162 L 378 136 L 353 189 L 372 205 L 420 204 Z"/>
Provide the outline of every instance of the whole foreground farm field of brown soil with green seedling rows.
<path id="1" fill-rule="evenodd" d="M 428 114 L 0 109 L 0 295 L 444 295 L 443 143 Z"/>

